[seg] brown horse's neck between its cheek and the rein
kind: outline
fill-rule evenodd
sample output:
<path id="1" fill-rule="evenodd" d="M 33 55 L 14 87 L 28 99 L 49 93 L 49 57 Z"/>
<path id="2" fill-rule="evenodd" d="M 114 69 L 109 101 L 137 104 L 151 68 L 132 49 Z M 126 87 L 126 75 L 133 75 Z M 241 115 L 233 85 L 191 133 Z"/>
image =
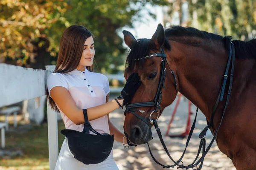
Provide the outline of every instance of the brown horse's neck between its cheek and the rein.
<path id="1" fill-rule="evenodd" d="M 221 48 L 212 51 L 200 47 L 189 47 L 182 53 L 183 59 L 177 66 L 179 91 L 209 120 L 221 88 L 227 53 Z"/>

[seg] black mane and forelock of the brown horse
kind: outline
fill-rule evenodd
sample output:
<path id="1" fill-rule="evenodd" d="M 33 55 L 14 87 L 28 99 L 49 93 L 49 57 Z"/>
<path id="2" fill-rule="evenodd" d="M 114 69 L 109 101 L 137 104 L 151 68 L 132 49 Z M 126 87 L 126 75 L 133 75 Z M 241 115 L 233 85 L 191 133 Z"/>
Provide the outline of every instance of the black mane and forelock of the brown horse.
<path id="1" fill-rule="evenodd" d="M 171 26 L 165 29 L 166 40 L 164 41 L 163 48 L 171 50 L 169 39 L 192 46 L 200 46 L 205 42 L 221 43 L 228 50 L 227 40 L 230 41 L 231 37 L 222 37 L 217 34 L 200 31 L 192 27 Z M 149 54 L 150 50 L 156 50 L 154 45 L 150 44 L 151 39 L 138 39 L 136 40 L 131 50 L 129 51 L 125 65 L 128 70 L 136 67 L 136 59 L 143 58 Z M 236 58 L 239 59 L 256 59 L 256 39 L 250 41 L 233 40 L 235 45 Z M 139 66 L 143 66 L 144 59 L 139 60 Z"/>

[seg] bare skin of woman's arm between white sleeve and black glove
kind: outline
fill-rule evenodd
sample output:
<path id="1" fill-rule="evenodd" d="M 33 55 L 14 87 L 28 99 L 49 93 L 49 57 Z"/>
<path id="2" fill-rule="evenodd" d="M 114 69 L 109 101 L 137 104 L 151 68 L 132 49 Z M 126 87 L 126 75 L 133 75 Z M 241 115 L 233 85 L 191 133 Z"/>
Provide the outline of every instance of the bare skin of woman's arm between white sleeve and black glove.
<path id="1" fill-rule="evenodd" d="M 72 96 L 67 91 L 67 88 L 56 86 L 51 89 L 50 96 L 54 102 L 58 105 L 61 111 L 76 125 L 84 123 L 83 110 L 77 108 L 75 101 Z M 123 99 L 118 100 L 122 105 Z M 119 108 L 119 105 L 115 100 L 107 102 L 105 104 L 95 106 L 92 108 L 87 108 L 87 115 L 89 121 L 98 119 L 106 114 Z"/>

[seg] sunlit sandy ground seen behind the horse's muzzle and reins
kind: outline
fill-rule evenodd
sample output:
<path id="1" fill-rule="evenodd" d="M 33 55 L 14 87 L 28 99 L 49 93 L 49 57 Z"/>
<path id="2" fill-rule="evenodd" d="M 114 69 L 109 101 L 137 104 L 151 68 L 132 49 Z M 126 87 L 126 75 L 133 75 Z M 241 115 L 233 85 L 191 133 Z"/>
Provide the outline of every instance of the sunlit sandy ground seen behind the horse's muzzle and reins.
<path id="1" fill-rule="evenodd" d="M 111 97 L 113 98 L 113 97 Z M 176 99 L 177 101 L 177 99 Z M 166 146 L 169 150 L 171 156 L 178 160 L 183 153 L 186 139 L 180 138 L 170 138 L 165 136 L 167 126 L 169 125 L 169 121 L 171 119 L 171 114 L 175 107 L 175 102 L 172 105 L 167 107 L 162 116 L 160 116 L 158 120 L 158 125 L 163 134 L 163 140 L 166 143 Z M 192 105 L 192 122 L 195 117 L 196 107 Z M 110 114 L 111 122 L 119 128 L 119 130 L 123 131 L 123 122 L 125 116 L 123 115 L 124 110 L 117 109 Z M 179 107 L 177 108 L 177 113 L 175 115 L 175 119 L 172 123 L 171 130 L 169 134 L 183 133 L 186 127 L 186 121 L 188 116 L 188 100 L 182 99 L 180 101 Z M 198 111 L 197 123 L 195 126 L 194 133 L 189 142 L 189 146 L 187 148 L 186 154 L 183 158 L 183 162 L 185 165 L 191 163 L 198 152 L 198 146 L 200 139 L 198 138 L 201 130 L 206 126 L 205 116 L 201 111 Z M 157 136 L 156 130 L 152 128 L 153 140 L 150 142 L 151 150 L 154 157 L 162 164 L 173 164 L 169 157 L 166 155 L 161 142 Z M 207 146 L 212 139 L 212 134 L 208 131 L 207 133 Z M 139 145 L 137 147 L 130 147 L 128 151 L 122 146 L 119 142 L 114 142 L 113 147 L 113 156 L 116 161 L 117 166 L 120 170 L 161 170 L 163 167 L 154 162 L 151 158 L 150 153 L 148 151 L 147 144 Z M 170 168 L 170 169 L 176 169 Z M 217 144 L 214 142 L 211 149 L 209 150 L 207 156 L 204 159 L 204 165 L 202 170 L 236 170 L 233 166 L 232 161 L 227 158 L 226 155 L 221 153 L 218 149 Z"/>

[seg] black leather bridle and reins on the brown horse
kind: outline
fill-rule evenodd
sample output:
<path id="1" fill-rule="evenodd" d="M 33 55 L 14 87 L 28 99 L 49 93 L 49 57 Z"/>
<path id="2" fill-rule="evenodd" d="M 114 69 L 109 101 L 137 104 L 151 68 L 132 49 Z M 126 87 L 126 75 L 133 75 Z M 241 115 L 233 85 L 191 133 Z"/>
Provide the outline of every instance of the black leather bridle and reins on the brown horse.
<path id="1" fill-rule="evenodd" d="M 231 38 L 229 36 L 225 37 L 227 38 L 228 40 L 231 40 Z M 157 130 L 157 134 L 158 134 L 158 137 L 160 139 L 160 142 L 162 143 L 163 145 L 163 148 L 164 150 L 166 151 L 166 154 L 169 156 L 169 158 L 174 162 L 173 165 L 163 165 L 161 164 L 160 162 L 158 162 L 152 152 L 151 152 L 151 149 L 149 147 L 149 144 L 148 144 L 148 148 L 149 148 L 149 152 L 150 152 L 150 155 L 151 157 L 154 159 L 154 161 L 161 165 L 163 168 L 167 167 L 167 168 L 174 168 L 175 166 L 177 166 L 177 168 L 184 168 L 184 169 L 192 169 L 192 170 L 201 170 L 202 166 L 203 166 L 203 162 L 204 162 L 204 157 L 206 156 L 206 154 L 208 153 L 210 147 L 212 146 L 215 138 L 216 138 L 216 135 L 218 133 L 218 130 L 221 126 L 221 122 L 223 120 L 223 117 L 224 117 L 224 113 L 227 109 L 227 105 L 229 103 L 229 99 L 230 99 L 230 94 L 231 94 L 231 89 L 232 89 L 232 84 L 233 84 L 233 72 L 234 72 L 234 65 L 235 65 L 235 47 L 234 47 L 234 44 L 233 42 L 229 41 L 229 58 L 228 58 L 228 61 L 227 61 L 227 67 L 226 67 L 226 70 L 225 70 L 225 73 L 224 73 L 224 79 L 223 79 L 223 82 L 222 82 L 222 85 L 221 85 L 221 90 L 219 92 L 219 95 L 218 95 L 218 98 L 215 102 L 215 105 L 214 105 L 214 108 L 213 108 L 213 111 L 212 111 L 212 114 L 211 114 L 211 119 L 210 119 L 210 122 L 207 121 L 207 126 L 204 128 L 204 130 L 201 131 L 201 133 L 199 134 L 199 138 L 201 139 L 200 141 L 200 144 L 199 144 L 199 148 L 198 148 L 198 153 L 197 153 L 197 156 L 195 158 L 195 160 L 185 166 L 183 165 L 183 162 L 182 162 L 182 159 L 183 159 L 183 156 L 185 155 L 186 153 L 186 148 L 189 144 L 189 141 L 191 139 L 191 136 L 192 136 L 192 133 L 195 129 L 195 122 L 196 122 L 196 118 L 197 118 L 197 114 L 198 114 L 198 108 L 196 110 L 196 115 L 195 115 L 195 119 L 194 119 L 194 122 L 192 124 L 192 127 L 191 127 L 191 130 L 189 132 L 189 136 L 187 138 L 187 141 L 186 141 L 186 146 L 185 146 L 185 149 L 183 151 L 183 154 L 182 156 L 180 157 L 180 159 L 178 161 L 175 161 L 172 156 L 170 156 L 169 154 L 169 151 L 167 150 L 167 147 L 165 145 L 165 143 L 163 142 L 163 138 L 162 138 L 162 134 L 161 134 L 161 131 L 160 131 L 160 128 L 158 127 L 157 125 L 157 119 L 158 117 L 161 115 L 161 107 L 160 107 L 160 104 L 161 104 L 161 100 L 162 100 L 162 88 L 165 88 L 164 87 L 164 82 L 165 82 L 165 78 L 166 78 L 166 64 L 168 65 L 169 67 L 169 64 L 166 60 L 166 54 L 164 54 L 164 51 L 163 51 L 163 48 L 161 48 L 161 53 L 154 53 L 154 54 L 150 54 L 148 56 L 145 56 L 143 58 L 139 58 L 139 59 L 148 59 L 148 58 L 151 58 L 151 57 L 161 57 L 162 58 L 162 62 L 161 62 L 161 72 L 160 72 L 160 81 L 159 81 L 159 84 L 158 84 L 158 88 L 157 88 L 157 93 L 156 93 L 156 96 L 154 97 L 154 102 L 139 102 L 139 103 L 132 103 L 132 104 L 127 104 L 125 105 L 125 116 L 126 116 L 126 113 L 127 112 L 130 112 L 132 114 L 134 114 L 135 116 L 137 116 L 139 119 L 141 119 L 143 122 L 145 122 L 149 127 L 152 126 L 152 124 L 154 125 L 154 127 L 156 128 Z M 139 60 L 137 59 L 137 60 Z M 209 146 L 206 148 L 206 133 L 207 133 L 207 130 L 211 127 L 213 129 L 213 118 L 214 118 L 214 115 L 215 115 L 215 112 L 217 110 L 217 107 L 218 107 L 218 103 L 220 101 L 223 100 L 223 97 L 224 97 L 224 91 L 225 91 L 225 87 L 226 87 L 226 83 L 227 83 L 227 77 L 228 77 L 228 72 L 230 70 L 230 64 L 231 64 L 231 71 L 230 71 L 230 84 L 229 84 L 229 89 L 228 89 L 228 93 L 227 93 L 227 100 L 226 100 L 226 104 L 225 104 L 225 107 L 224 107 L 224 111 L 222 112 L 222 117 L 221 117 L 221 121 L 218 125 L 218 128 L 216 129 L 215 133 L 214 133 L 214 136 L 211 140 L 211 142 L 209 143 Z M 177 79 L 176 79 L 176 76 L 175 76 L 175 73 L 172 71 L 172 69 L 169 67 L 169 70 L 171 71 L 172 73 L 172 76 L 174 77 L 175 79 L 175 88 L 176 88 L 176 92 L 178 92 L 177 90 Z M 177 94 L 176 94 L 177 95 Z M 154 111 L 151 112 L 150 116 L 149 116 L 149 119 L 144 119 L 142 116 L 140 116 L 139 114 L 135 113 L 135 112 L 139 112 L 139 113 L 143 113 L 144 111 L 139 111 L 137 109 L 134 109 L 134 108 L 140 108 L 140 107 L 153 107 L 154 106 Z M 160 114 L 158 113 L 158 110 L 160 111 Z M 157 119 L 154 120 L 154 119 L 151 119 L 151 115 L 152 113 L 156 112 L 157 113 Z M 202 150 L 202 156 L 201 158 L 198 160 L 198 157 L 199 157 L 199 154 L 201 153 L 201 150 Z M 197 161 L 198 160 L 198 161 Z M 180 164 L 181 163 L 181 164 Z M 199 167 L 197 167 L 197 165 L 199 165 Z M 194 169 L 196 168 L 196 169 Z"/>

